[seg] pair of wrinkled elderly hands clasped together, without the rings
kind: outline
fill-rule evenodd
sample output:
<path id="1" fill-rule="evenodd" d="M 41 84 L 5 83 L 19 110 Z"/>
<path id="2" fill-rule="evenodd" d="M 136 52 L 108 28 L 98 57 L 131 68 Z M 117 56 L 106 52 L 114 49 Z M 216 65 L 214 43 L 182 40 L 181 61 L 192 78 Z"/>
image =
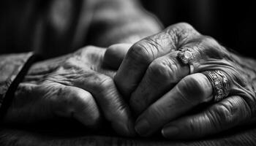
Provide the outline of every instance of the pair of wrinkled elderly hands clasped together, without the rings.
<path id="1" fill-rule="evenodd" d="M 195 51 L 193 70 L 178 60 L 181 47 Z M 61 116 L 90 128 L 105 118 L 125 136 L 148 137 L 162 131 L 169 139 L 204 137 L 255 116 L 253 75 L 238 60 L 187 23 L 134 45 L 84 47 L 34 64 L 4 121 L 31 123 Z M 211 80 L 202 73 L 208 70 L 227 75 L 230 88 L 225 99 L 213 102 Z M 203 103 L 208 106 L 191 112 Z"/>

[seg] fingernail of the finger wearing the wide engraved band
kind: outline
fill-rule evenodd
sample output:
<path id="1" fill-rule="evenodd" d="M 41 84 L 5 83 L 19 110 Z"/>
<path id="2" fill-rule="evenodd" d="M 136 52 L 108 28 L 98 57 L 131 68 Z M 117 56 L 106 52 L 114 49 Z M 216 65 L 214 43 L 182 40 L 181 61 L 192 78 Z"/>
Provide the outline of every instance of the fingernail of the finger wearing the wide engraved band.
<path id="1" fill-rule="evenodd" d="M 140 134 L 140 136 L 146 136 L 148 134 L 149 123 L 147 120 L 138 120 L 135 124 L 135 131 Z"/>

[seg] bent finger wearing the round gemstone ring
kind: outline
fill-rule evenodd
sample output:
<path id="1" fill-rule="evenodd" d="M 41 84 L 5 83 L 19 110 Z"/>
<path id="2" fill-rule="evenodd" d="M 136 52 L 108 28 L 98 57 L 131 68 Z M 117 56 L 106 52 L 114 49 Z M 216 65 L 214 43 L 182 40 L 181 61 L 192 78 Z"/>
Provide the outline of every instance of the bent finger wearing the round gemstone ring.
<path id="1" fill-rule="evenodd" d="M 137 114 L 159 99 L 164 93 L 173 88 L 176 83 L 189 74 L 206 69 L 217 69 L 228 66 L 218 53 L 218 43 L 214 39 L 202 37 L 193 39 L 181 46 L 189 49 L 194 59 L 191 64 L 183 64 L 178 58 L 180 51 L 176 50 L 155 59 L 146 70 L 138 87 L 132 92 L 130 105 Z M 212 54 L 215 54 L 212 56 Z M 221 53 L 219 53 L 221 54 Z M 218 64 L 218 66 L 216 65 Z"/>

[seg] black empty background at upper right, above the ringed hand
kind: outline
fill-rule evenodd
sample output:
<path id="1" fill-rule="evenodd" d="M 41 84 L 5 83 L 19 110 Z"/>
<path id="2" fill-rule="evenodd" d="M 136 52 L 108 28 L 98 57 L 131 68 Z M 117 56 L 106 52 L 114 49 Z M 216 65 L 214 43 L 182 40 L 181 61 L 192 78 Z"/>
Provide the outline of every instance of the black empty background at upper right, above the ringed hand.
<path id="1" fill-rule="evenodd" d="M 217 39 L 240 54 L 256 58 L 253 1 L 141 0 L 148 11 L 170 26 L 187 22 L 201 34 Z"/>

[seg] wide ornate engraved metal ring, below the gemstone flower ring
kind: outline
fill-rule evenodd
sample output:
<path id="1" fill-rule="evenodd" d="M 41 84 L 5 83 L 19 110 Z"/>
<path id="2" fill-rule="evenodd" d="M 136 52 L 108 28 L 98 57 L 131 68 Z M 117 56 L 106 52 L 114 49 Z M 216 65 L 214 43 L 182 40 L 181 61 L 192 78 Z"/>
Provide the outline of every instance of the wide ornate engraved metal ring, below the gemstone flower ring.
<path id="1" fill-rule="evenodd" d="M 202 72 L 211 82 L 214 94 L 214 101 L 220 101 L 227 97 L 230 91 L 230 82 L 224 72 L 219 70 Z"/>

